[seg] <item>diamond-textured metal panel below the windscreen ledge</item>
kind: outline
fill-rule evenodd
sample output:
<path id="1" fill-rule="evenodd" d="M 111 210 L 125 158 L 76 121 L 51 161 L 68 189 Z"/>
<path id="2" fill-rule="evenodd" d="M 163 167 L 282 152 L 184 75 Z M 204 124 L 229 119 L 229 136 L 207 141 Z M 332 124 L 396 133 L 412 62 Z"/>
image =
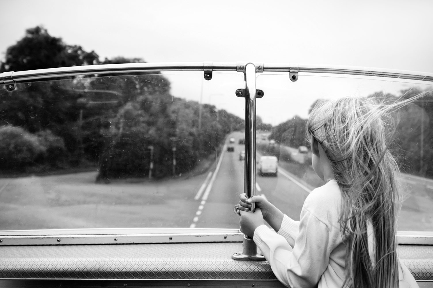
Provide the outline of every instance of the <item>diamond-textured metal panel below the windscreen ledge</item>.
<path id="1" fill-rule="evenodd" d="M 2 246 L 0 278 L 276 279 L 266 261 L 237 261 L 242 243 Z M 400 245 L 419 281 L 433 280 L 433 246 Z"/>

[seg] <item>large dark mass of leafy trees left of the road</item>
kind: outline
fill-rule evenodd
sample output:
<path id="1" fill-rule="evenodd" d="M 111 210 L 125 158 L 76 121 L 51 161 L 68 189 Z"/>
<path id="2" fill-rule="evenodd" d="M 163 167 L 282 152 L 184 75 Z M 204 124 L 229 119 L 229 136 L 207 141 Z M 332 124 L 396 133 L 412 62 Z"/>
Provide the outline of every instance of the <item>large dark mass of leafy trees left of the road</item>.
<path id="1" fill-rule="evenodd" d="M 144 60 L 100 61 L 96 52 L 67 45 L 37 26 L 6 50 L 0 73 L 138 62 Z M 219 151 L 228 133 L 243 128 L 244 121 L 225 110 L 173 97 L 161 73 L 102 76 L 19 83 L 12 92 L 2 87 L 2 173 L 97 166 L 97 181 L 149 173 L 162 178 L 191 171 Z"/>

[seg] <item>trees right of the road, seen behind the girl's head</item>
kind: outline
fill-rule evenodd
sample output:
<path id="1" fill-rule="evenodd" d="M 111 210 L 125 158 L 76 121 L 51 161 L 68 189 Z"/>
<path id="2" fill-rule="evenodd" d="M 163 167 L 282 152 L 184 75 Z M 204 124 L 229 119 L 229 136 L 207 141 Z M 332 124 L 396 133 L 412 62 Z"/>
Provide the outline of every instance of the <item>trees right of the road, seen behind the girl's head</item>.
<path id="1" fill-rule="evenodd" d="M 423 97 L 417 97 L 420 94 L 423 94 Z M 433 90 L 411 87 L 397 95 L 379 91 L 368 97 L 385 104 L 417 98 L 391 114 L 394 131 L 391 133 L 390 151 L 397 160 L 401 172 L 433 178 Z M 316 100 L 311 104 L 309 112 L 320 101 L 323 100 Z M 280 155 L 281 151 L 285 151 L 281 150 L 280 146 L 308 146 L 306 123 L 307 119 L 294 116 L 273 127 L 269 137 L 275 139 L 276 144 L 266 147 L 265 151 L 290 160 L 290 155 Z"/>

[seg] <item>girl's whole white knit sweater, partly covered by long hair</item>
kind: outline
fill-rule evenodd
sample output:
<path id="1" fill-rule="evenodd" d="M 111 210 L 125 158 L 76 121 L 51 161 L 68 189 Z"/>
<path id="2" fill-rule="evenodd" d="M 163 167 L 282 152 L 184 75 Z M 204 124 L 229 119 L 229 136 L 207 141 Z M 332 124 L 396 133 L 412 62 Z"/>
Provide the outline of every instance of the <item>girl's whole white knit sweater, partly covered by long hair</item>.
<path id="1" fill-rule="evenodd" d="M 284 215 L 278 233 L 266 225 L 256 228 L 254 242 L 284 285 L 294 288 L 342 287 L 346 246 L 338 223 L 340 203 L 339 186 L 335 180 L 330 180 L 310 192 L 302 207 L 300 221 Z M 368 226 L 368 246 L 374 264 L 374 234 L 372 226 Z M 418 287 L 404 265 L 399 274 L 400 287 Z"/>

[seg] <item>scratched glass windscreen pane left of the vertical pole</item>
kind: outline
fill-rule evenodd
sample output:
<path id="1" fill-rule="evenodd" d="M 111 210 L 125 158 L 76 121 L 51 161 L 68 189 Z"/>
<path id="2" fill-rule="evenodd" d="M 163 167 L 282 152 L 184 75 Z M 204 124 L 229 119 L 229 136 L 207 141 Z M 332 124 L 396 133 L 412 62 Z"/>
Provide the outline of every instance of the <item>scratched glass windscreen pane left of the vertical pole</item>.
<path id="1" fill-rule="evenodd" d="M 244 87 L 216 71 L 1 87 L 0 230 L 238 228 Z"/>

